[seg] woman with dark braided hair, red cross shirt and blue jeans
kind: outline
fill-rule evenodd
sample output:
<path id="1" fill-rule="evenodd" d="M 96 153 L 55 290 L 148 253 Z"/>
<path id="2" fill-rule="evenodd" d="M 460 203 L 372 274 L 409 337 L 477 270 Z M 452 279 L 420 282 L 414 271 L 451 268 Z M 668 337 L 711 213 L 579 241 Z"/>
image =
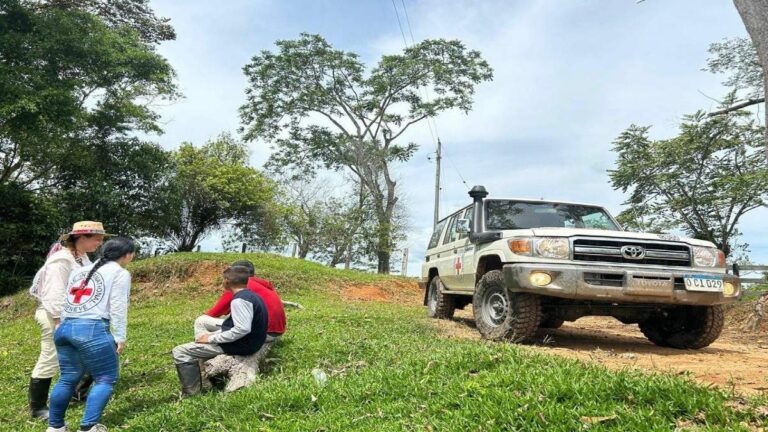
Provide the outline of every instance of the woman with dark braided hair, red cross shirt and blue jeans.
<path id="1" fill-rule="evenodd" d="M 51 392 L 48 432 L 66 431 L 64 415 L 86 371 L 93 376 L 94 385 L 79 430 L 107 430 L 99 420 L 117 382 L 117 356 L 125 349 L 131 274 L 124 267 L 135 252 L 133 240 L 110 240 L 102 248 L 101 259 L 72 272 L 69 278 L 62 322 L 54 334 L 61 378 Z"/>

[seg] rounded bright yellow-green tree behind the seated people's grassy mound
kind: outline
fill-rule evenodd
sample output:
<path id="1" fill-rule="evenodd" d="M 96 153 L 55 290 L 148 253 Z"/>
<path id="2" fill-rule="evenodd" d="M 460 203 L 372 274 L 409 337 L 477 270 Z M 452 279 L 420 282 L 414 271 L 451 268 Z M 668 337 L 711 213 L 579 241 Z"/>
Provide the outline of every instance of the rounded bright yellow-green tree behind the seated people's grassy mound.
<path id="1" fill-rule="evenodd" d="M 156 219 L 177 251 L 191 251 L 210 232 L 269 214 L 274 184 L 251 168 L 246 146 L 222 134 L 202 147 L 183 143 L 174 153 L 175 175 Z"/>

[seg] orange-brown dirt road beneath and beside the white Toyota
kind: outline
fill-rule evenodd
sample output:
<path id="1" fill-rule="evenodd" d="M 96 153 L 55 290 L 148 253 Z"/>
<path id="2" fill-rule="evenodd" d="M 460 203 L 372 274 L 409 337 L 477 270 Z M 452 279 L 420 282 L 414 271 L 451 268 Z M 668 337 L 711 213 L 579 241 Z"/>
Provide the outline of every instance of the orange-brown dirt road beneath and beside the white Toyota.
<path id="1" fill-rule="evenodd" d="M 416 284 L 358 285 L 341 289 L 351 301 L 389 301 L 420 304 Z M 457 311 L 451 321 L 435 320 L 446 337 L 480 339 L 472 320 L 471 306 Z M 613 318 L 586 317 L 565 323 L 557 330 L 540 330 L 531 349 L 595 362 L 609 368 L 689 372 L 705 384 L 735 389 L 743 394 L 768 393 L 768 332 L 746 333 L 738 320 L 729 318 L 721 337 L 711 346 L 686 351 L 662 348 L 648 342 L 637 325 Z"/>

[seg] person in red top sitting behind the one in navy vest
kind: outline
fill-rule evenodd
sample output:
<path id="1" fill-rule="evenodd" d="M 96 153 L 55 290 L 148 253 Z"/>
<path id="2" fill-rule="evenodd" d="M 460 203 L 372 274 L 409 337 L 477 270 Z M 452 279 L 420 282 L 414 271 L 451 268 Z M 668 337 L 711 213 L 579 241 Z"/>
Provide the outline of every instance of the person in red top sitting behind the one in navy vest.
<path id="1" fill-rule="evenodd" d="M 283 301 L 275 291 L 272 283 L 266 279 L 260 279 L 254 276 L 256 269 L 250 261 L 235 261 L 232 267 L 245 267 L 250 272 L 248 278 L 248 289 L 261 297 L 264 305 L 267 307 L 267 340 L 266 342 L 276 341 L 285 333 L 285 308 Z M 221 324 L 224 320 L 222 316 L 229 315 L 230 303 L 232 303 L 232 291 L 224 291 L 216 304 L 205 313 L 195 319 L 195 338 L 204 334 L 221 330 Z"/>

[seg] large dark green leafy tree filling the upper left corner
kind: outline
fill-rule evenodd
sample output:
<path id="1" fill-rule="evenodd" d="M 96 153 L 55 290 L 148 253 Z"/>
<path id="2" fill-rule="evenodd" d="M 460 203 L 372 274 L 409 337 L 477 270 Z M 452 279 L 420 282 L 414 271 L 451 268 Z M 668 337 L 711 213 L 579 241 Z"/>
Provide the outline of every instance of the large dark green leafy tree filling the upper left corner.
<path id="1" fill-rule="evenodd" d="M 159 132 L 152 102 L 177 96 L 135 28 L 65 3 L 0 4 L 0 184 L 55 188 L 94 142 Z"/>

